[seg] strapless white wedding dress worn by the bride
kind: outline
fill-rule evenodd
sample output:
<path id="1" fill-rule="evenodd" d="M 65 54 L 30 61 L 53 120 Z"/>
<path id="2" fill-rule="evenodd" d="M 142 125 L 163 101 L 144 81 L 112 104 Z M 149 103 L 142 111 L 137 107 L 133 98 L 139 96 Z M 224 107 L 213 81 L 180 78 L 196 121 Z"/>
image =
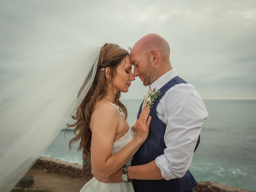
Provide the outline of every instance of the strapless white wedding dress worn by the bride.
<path id="1" fill-rule="evenodd" d="M 112 104 L 111 104 L 112 105 Z M 127 145 L 135 136 L 135 133 L 129 128 L 128 132 L 125 135 L 113 143 L 112 154 L 120 151 Z M 132 158 L 126 163 L 131 165 Z M 121 177 L 121 175 L 120 175 Z M 93 177 L 88 181 L 80 192 L 134 192 L 132 182 L 120 182 L 120 183 L 102 183 Z"/>

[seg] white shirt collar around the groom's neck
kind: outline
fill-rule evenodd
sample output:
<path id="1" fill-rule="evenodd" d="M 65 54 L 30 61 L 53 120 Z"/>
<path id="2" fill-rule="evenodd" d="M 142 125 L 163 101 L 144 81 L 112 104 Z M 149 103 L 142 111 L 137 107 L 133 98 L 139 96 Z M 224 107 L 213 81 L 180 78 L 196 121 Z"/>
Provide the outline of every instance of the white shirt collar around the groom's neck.
<path id="1" fill-rule="evenodd" d="M 163 87 L 167 82 L 171 81 L 174 77 L 178 76 L 178 72 L 176 68 L 171 69 L 170 71 L 166 72 L 164 75 L 160 76 L 156 81 L 154 81 L 149 87 L 153 90 L 154 88 L 160 89 Z"/>

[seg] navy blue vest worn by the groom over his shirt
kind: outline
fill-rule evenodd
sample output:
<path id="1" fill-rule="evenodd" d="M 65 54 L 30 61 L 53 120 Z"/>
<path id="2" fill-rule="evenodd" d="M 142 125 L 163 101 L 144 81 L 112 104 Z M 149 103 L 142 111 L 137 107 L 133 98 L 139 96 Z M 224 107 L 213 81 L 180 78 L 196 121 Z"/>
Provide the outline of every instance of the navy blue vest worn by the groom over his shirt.
<path id="1" fill-rule="evenodd" d="M 180 83 L 187 83 L 180 77 L 176 76 L 171 81 L 166 83 L 160 88 L 162 92 L 155 100 L 154 105 L 151 107 L 149 116 L 152 116 L 151 124 L 149 126 L 148 139 L 142 144 L 139 150 L 135 153 L 132 159 L 132 165 L 143 165 L 147 164 L 156 159 L 156 157 L 164 154 L 166 148 L 164 143 L 164 133 L 166 125 L 157 117 L 156 106 L 159 100 L 164 96 L 165 92 L 168 91 L 172 86 Z M 170 101 L 175 102 L 175 101 Z M 142 102 L 143 103 L 143 102 Z M 137 119 L 141 113 L 141 107 L 138 112 Z M 196 143 L 196 148 L 200 142 L 200 135 Z M 196 148 L 194 152 L 196 151 Z M 175 178 L 171 180 L 132 180 L 133 188 L 135 192 L 189 192 L 192 191 L 193 187 L 198 183 L 196 182 L 193 175 L 187 171 L 182 178 Z"/>

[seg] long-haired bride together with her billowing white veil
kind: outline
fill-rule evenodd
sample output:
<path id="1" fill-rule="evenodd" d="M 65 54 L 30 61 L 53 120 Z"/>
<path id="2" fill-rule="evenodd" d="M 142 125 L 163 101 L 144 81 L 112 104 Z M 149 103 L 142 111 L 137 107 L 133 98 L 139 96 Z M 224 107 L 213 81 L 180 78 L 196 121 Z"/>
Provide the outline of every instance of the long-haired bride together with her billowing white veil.
<path id="1" fill-rule="evenodd" d="M 101 182 L 123 166 L 124 173 L 129 170 L 132 156 L 148 137 L 149 109 L 130 128 L 119 101 L 120 92 L 127 92 L 134 80 L 131 69 L 129 53 L 118 45 L 86 45 L 82 54 L 6 84 L 0 90 L 0 191 L 12 190 L 70 116 L 76 120 L 69 124 L 76 137 L 69 147 L 81 139 L 79 149 L 91 154 L 95 176 L 81 191 L 134 191 L 129 181 Z"/>

